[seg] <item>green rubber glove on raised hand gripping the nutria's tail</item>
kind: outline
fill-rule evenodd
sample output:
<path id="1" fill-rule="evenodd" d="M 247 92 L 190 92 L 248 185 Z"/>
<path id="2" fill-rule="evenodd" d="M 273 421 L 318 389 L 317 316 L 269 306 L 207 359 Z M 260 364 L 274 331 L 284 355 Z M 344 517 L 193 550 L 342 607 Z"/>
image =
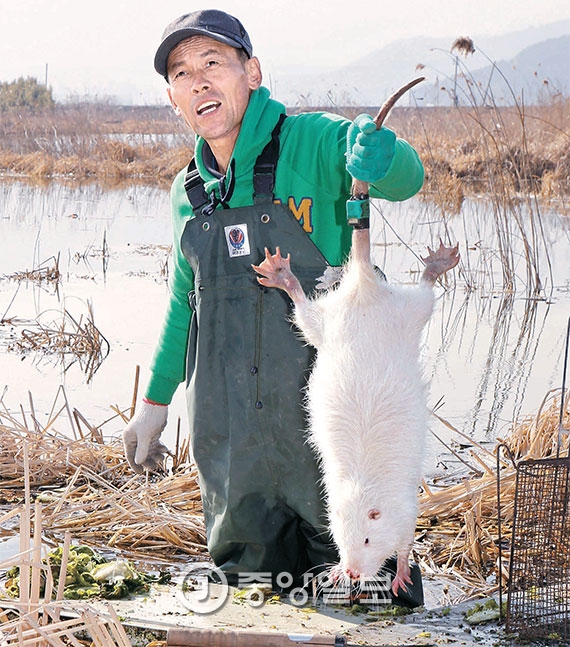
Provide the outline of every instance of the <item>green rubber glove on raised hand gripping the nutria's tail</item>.
<path id="1" fill-rule="evenodd" d="M 376 130 L 370 115 L 358 115 L 346 134 L 346 170 L 355 180 L 381 180 L 394 159 L 396 135 L 388 128 Z"/>

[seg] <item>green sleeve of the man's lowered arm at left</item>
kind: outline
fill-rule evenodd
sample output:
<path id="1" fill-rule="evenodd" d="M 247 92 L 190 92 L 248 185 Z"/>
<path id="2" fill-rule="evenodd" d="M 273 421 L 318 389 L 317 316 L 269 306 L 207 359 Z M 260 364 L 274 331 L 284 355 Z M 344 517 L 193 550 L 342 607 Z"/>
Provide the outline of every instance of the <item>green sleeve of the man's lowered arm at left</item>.
<path id="1" fill-rule="evenodd" d="M 188 295 L 194 289 L 194 273 L 180 248 L 184 226 L 191 217 L 182 175 L 181 173 L 174 180 L 171 190 L 173 243 L 170 300 L 145 391 L 149 400 L 160 404 L 170 404 L 178 385 L 185 379 L 188 332 L 192 316 Z"/>

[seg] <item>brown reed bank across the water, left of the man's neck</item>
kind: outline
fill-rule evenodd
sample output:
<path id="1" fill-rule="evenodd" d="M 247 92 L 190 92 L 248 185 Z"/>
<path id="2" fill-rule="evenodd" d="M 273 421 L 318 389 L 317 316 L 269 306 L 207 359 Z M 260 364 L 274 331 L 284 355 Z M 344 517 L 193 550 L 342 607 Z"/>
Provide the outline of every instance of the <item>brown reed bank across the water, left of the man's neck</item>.
<path id="1" fill-rule="evenodd" d="M 167 188 L 188 164 L 193 138 L 167 107 L 92 103 L 42 114 L 3 113 L 0 174 L 33 183 L 97 182 Z"/>

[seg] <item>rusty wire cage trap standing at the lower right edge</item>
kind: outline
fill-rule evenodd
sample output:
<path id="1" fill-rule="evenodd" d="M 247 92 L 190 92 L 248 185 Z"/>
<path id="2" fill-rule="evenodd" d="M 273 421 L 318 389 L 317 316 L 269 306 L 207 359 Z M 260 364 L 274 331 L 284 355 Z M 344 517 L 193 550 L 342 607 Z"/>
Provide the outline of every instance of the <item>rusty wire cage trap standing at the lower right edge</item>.
<path id="1" fill-rule="evenodd" d="M 569 340 L 570 320 L 556 457 L 517 464 L 501 445 L 516 469 L 506 629 L 531 640 L 570 641 L 570 454 L 560 456 Z M 500 481 L 498 496 L 500 520 Z"/>

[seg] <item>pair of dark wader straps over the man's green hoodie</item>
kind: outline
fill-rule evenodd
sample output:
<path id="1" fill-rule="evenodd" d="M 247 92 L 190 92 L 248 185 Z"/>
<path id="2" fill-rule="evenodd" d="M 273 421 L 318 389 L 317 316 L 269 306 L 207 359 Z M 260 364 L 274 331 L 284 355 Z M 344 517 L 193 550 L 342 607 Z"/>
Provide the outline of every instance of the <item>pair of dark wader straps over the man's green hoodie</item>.
<path id="1" fill-rule="evenodd" d="M 255 204 L 273 202 L 275 169 L 279 159 L 279 133 L 285 116 L 285 114 L 279 116 L 279 120 L 271 133 L 271 140 L 261 151 L 253 167 L 253 202 Z M 211 204 L 211 200 L 204 189 L 204 180 L 200 177 L 194 159 L 188 164 L 186 177 L 184 178 L 184 189 L 195 213 L 200 213 L 206 205 Z"/>

